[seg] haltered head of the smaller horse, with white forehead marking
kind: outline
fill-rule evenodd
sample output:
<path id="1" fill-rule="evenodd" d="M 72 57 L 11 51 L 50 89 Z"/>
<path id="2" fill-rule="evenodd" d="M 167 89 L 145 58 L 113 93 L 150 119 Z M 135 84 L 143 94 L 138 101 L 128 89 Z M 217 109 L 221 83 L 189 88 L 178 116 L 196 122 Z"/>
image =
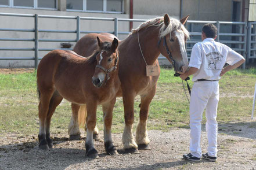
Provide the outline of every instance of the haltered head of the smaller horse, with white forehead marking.
<path id="1" fill-rule="evenodd" d="M 95 87 L 102 87 L 110 79 L 111 73 L 115 72 L 118 64 L 118 40 L 113 42 L 102 42 L 97 36 L 99 53 L 96 56 L 97 65 L 92 77 L 92 84 Z"/>

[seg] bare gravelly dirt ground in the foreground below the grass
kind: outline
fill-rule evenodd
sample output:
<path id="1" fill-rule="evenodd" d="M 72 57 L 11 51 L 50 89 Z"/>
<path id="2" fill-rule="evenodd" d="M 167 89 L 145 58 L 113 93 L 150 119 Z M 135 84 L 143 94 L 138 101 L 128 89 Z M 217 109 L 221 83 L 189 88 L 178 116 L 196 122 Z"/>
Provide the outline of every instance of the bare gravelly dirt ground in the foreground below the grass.
<path id="1" fill-rule="evenodd" d="M 182 160 L 189 152 L 189 129 L 149 131 L 151 150 L 129 154 L 122 150 L 122 134 L 113 134 L 118 156 L 104 152 L 103 133 L 95 141 L 98 159 L 85 157 L 85 138 L 69 141 L 67 134 L 52 134 L 53 149 L 39 150 L 37 135 L 8 134 L 0 138 L 0 169 L 256 169 L 256 123 L 219 124 L 218 161 Z M 84 136 L 85 134 L 82 134 Z M 205 127 L 201 138 L 207 149 Z"/>

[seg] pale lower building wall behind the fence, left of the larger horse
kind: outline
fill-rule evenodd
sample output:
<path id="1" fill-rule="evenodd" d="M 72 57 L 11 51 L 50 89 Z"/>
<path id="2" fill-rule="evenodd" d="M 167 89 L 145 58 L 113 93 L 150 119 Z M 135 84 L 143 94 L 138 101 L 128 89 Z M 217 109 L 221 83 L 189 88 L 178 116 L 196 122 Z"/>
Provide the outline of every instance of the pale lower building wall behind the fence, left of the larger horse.
<path id="1" fill-rule="evenodd" d="M 59 10 L 35 10 L 35 9 L 19 9 L 19 8 L 0 8 L 2 13 L 21 13 L 21 14 L 42 14 L 54 16 L 81 16 L 81 17 L 104 17 L 104 18 L 129 18 L 129 14 L 109 14 L 109 13 L 85 13 L 85 12 L 67 12 Z M 151 15 L 134 15 L 134 19 L 152 19 L 157 16 Z M 9 17 L 0 16 L 0 28 L 16 28 L 16 29 L 34 29 L 33 17 Z M 81 20 L 81 31 L 114 31 L 114 21 L 94 21 Z M 140 23 L 134 22 L 134 28 Z M 38 19 L 38 29 L 56 29 L 56 30 L 76 30 L 76 20 L 71 19 Z M 118 31 L 129 32 L 129 22 L 118 22 Z M 81 34 L 81 37 L 85 34 Z M 119 39 L 125 39 L 128 35 L 118 35 Z M 34 38 L 34 32 L 12 32 L 0 31 L 1 38 Z M 76 39 L 76 34 L 70 33 L 48 33 L 39 32 L 39 39 Z M 62 42 L 39 42 L 39 48 L 59 49 Z M 70 42 L 74 47 L 75 42 Z M 1 48 L 34 48 L 34 42 L 12 42 L 0 41 Z M 38 57 L 44 57 L 49 51 L 39 51 Z M 34 57 L 34 51 L 3 51 L 0 50 L 0 57 Z M 23 67 L 34 66 L 34 61 L 10 61 L 0 60 L 0 67 Z"/>

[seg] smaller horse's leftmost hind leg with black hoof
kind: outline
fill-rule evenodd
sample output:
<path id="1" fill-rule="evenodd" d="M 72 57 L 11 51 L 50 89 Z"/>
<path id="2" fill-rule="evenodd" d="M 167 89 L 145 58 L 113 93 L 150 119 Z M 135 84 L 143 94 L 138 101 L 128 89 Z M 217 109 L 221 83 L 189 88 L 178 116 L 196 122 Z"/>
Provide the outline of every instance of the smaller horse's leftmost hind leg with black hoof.
<path id="1" fill-rule="evenodd" d="M 38 116 L 39 116 L 39 149 L 49 149 L 48 142 L 46 140 L 46 117 L 49 110 L 49 104 L 52 98 L 53 90 L 41 91 L 40 102 L 38 105 Z"/>

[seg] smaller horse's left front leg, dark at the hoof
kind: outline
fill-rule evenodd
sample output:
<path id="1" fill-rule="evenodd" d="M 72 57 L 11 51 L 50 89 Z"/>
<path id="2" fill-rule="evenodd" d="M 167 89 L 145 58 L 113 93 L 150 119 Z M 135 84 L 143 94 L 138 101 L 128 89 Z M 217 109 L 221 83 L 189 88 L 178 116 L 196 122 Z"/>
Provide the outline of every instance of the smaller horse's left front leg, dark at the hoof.
<path id="1" fill-rule="evenodd" d="M 90 102 L 86 105 L 87 109 L 87 117 L 86 117 L 86 125 L 87 125 L 87 132 L 86 132 L 86 142 L 85 142 L 85 149 L 86 149 L 86 156 L 89 158 L 98 158 L 98 151 L 95 149 L 93 144 L 93 130 L 96 125 L 96 111 L 97 111 L 97 104 Z"/>

